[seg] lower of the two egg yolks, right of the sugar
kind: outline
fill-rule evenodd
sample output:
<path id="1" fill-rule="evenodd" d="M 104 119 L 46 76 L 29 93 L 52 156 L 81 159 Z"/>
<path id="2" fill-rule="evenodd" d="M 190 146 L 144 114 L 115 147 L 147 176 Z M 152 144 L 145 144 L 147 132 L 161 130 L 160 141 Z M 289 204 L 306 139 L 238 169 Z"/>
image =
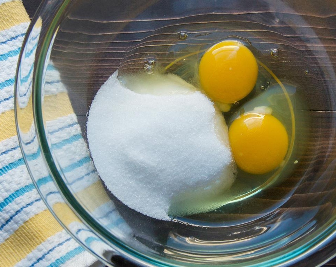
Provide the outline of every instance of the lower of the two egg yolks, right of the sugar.
<path id="1" fill-rule="evenodd" d="M 288 149 L 288 135 L 272 115 L 247 113 L 229 128 L 229 140 L 237 166 L 251 174 L 264 174 L 277 168 Z"/>

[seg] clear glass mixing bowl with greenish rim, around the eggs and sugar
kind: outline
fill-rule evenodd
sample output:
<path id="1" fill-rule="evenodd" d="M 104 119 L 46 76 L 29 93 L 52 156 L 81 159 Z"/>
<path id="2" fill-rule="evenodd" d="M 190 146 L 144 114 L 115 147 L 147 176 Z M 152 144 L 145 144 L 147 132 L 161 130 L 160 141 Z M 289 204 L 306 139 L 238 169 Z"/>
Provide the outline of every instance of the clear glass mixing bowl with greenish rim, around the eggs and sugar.
<path id="1" fill-rule="evenodd" d="M 334 1 L 44 1 L 20 54 L 15 112 L 26 165 L 50 211 L 111 266 L 318 266 L 330 259 L 335 13 Z M 95 93 L 119 66 L 144 72 L 149 60 L 167 66 L 185 47 L 227 38 L 248 43 L 300 96 L 293 168 L 220 212 L 168 222 L 129 209 L 104 189 L 90 158 L 86 120 Z"/>

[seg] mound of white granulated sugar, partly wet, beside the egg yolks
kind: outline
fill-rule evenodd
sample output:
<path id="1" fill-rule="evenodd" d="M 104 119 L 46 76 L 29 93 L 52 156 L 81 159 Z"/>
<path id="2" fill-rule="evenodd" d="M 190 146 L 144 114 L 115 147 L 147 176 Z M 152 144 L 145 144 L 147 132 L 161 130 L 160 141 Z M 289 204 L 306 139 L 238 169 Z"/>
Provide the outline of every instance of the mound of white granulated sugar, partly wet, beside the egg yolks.
<path id="1" fill-rule="evenodd" d="M 87 137 L 97 171 L 128 207 L 162 220 L 218 208 L 235 166 L 223 116 L 175 75 L 117 72 L 96 94 Z M 160 93 L 162 92 L 162 93 Z"/>

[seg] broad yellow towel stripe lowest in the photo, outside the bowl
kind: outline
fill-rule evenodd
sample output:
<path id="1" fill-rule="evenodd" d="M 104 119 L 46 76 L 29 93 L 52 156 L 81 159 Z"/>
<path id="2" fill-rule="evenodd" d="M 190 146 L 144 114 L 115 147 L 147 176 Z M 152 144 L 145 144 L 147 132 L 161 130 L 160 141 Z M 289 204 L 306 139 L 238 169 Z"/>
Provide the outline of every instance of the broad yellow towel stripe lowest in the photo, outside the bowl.
<path id="1" fill-rule="evenodd" d="M 62 230 L 48 210 L 30 218 L 0 244 L 1 267 L 15 265 L 47 238 Z"/>

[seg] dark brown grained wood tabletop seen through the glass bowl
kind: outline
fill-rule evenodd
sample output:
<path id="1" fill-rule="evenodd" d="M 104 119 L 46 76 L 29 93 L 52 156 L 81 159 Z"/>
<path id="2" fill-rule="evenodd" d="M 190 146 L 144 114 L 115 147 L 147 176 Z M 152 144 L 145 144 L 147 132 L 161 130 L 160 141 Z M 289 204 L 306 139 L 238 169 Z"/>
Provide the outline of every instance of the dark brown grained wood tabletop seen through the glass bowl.
<path id="1" fill-rule="evenodd" d="M 24 1 L 26 6 L 33 2 Z M 84 135 L 89 105 L 118 67 L 125 72 L 143 71 L 149 59 L 167 65 L 225 38 L 242 38 L 280 80 L 297 87 L 304 102 L 296 111 L 304 120 L 298 122 L 297 166 L 289 179 L 250 198 L 246 205 L 267 210 L 283 202 L 277 212 L 291 209 L 293 214 L 319 208 L 320 223 L 323 216 L 335 214 L 335 1 L 240 0 L 226 1 L 224 7 L 222 1 L 212 5 L 154 0 L 99 3 L 74 1 L 51 52 Z M 179 38 L 181 31 L 188 34 L 185 40 Z M 279 49 L 278 58 L 270 55 L 273 48 Z M 217 216 L 221 221 L 247 215 L 238 209 Z M 325 257 L 335 246 L 331 242 L 318 255 Z M 325 266 L 336 266 L 336 260 Z"/>

